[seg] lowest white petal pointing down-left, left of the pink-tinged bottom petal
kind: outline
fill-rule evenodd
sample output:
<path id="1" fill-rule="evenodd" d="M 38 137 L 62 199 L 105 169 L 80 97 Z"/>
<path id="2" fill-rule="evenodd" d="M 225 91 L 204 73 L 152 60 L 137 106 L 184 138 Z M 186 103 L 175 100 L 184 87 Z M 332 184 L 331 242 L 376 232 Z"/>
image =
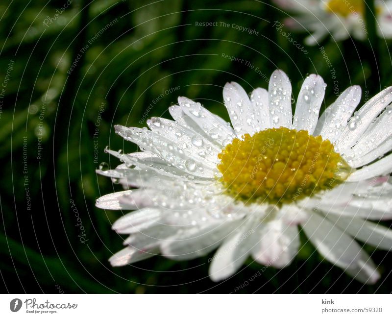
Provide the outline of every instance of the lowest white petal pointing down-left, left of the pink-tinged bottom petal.
<path id="1" fill-rule="evenodd" d="M 211 280 L 217 282 L 226 279 L 244 264 L 258 240 L 254 235 L 255 229 L 252 227 L 257 223 L 252 223 L 245 221 L 245 224 L 239 226 L 219 247 L 209 269 Z"/>

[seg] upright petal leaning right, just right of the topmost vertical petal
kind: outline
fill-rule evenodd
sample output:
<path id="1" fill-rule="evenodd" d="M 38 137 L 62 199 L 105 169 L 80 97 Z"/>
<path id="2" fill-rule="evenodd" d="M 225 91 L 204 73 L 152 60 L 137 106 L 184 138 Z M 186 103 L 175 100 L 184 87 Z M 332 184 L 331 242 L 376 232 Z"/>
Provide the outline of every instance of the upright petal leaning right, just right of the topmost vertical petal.
<path id="1" fill-rule="evenodd" d="M 319 119 L 319 111 L 325 94 L 324 80 L 321 76 L 310 74 L 304 80 L 298 95 L 293 128 L 307 130 L 312 134 Z"/>

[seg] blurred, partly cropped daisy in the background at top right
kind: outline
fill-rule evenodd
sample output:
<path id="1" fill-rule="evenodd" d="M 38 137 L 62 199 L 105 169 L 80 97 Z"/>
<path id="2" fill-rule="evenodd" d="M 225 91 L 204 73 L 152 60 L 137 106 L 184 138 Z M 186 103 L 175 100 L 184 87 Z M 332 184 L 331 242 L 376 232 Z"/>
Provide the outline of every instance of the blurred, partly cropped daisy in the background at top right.
<path id="1" fill-rule="evenodd" d="M 330 34 L 336 41 L 350 35 L 359 40 L 367 37 L 365 23 L 366 3 L 363 0 L 274 0 L 282 9 L 296 13 L 284 24 L 293 30 L 307 30 L 311 33 L 305 39 L 307 45 L 316 45 Z M 392 38 L 392 1 L 376 0 L 378 35 Z"/>

